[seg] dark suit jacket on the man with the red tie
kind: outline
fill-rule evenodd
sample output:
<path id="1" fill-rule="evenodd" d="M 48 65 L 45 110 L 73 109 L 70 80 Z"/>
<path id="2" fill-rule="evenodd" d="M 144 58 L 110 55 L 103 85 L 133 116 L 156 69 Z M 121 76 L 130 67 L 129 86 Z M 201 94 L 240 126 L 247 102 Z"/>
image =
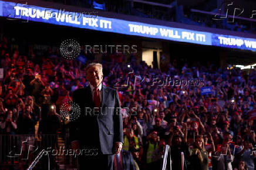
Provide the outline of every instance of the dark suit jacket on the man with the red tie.
<path id="1" fill-rule="evenodd" d="M 80 149 L 100 145 L 103 154 L 114 154 L 114 143 L 123 143 L 123 121 L 117 91 L 102 84 L 102 111 L 93 114 L 94 103 L 90 86 L 73 92 L 73 102 L 81 114 L 70 122 L 70 141 L 79 141 Z M 87 108 L 87 109 L 86 109 Z M 91 112 L 85 111 L 92 109 Z M 99 109 L 100 110 L 100 109 Z"/>

